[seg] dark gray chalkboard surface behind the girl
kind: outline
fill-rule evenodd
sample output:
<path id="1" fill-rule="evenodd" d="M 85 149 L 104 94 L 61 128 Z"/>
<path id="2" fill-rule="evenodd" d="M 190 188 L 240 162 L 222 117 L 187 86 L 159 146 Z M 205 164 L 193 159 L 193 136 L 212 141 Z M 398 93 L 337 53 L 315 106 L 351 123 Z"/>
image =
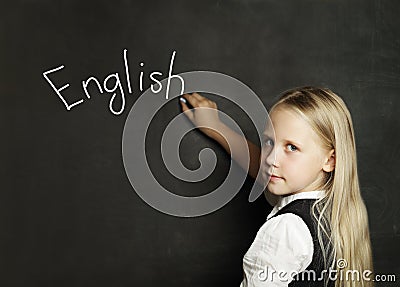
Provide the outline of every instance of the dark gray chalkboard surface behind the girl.
<path id="1" fill-rule="evenodd" d="M 239 286 L 242 257 L 271 210 L 264 197 L 248 202 L 252 180 L 223 208 L 181 218 L 146 204 L 124 170 L 122 133 L 142 94 L 140 75 L 142 90 L 152 72 L 165 78 L 174 51 L 174 73 L 230 75 L 267 107 L 303 85 L 344 98 L 375 271 L 399 281 L 399 12 L 395 0 L 2 1 L 0 286 Z M 55 68 L 55 87 L 69 83 L 61 92 L 66 103 L 43 77 Z M 109 108 L 111 92 L 90 86 L 88 99 L 81 85 L 90 76 L 115 80 L 115 73 L 126 94 L 118 115 Z M 254 136 L 237 106 L 210 97 Z M 197 184 L 169 175 L 157 141 L 179 113 L 176 99 L 160 110 L 146 155 L 163 185 L 199 195 L 224 180 L 230 159 L 194 130 L 181 143 L 181 160 L 198 168 L 199 152 L 210 147 L 215 172 Z"/>

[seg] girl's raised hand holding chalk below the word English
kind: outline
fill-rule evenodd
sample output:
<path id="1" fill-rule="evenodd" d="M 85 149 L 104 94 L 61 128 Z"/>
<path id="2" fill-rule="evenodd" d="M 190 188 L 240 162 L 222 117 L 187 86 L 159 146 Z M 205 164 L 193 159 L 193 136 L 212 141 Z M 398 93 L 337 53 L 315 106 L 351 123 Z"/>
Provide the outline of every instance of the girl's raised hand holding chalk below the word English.
<path id="1" fill-rule="evenodd" d="M 184 114 L 196 127 L 200 129 L 200 131 L 205 133 L 207 136 L 214 137 L 216 131 L 213 129 L 219 130 L 219 127 L 222 124 L 218 116 L 217 104 L 198 93 L 184 94 L 181 97 L 185 98 L 194 108 L 190 109 L 187 104 L 179 101 Z"/>

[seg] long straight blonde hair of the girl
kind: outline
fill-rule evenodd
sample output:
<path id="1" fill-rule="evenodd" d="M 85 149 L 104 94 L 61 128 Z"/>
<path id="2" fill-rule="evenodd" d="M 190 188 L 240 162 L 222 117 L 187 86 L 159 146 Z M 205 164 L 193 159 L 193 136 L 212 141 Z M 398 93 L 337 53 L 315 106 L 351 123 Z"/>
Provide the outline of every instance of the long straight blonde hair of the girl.
<path id="1" fill-rule="evenodd" d="M 372 251 L 368 215 L 358 181 L 353 123 L 346 104 L 329 89 L 302 87 L 285 92 L 271 111 L 278 106 L 299 114 L 317 133 L 321 146 L 327 151 L 334 149 L 335 168 L 324 172 L 325 182 L 321 187 L 325 196 L 312 208 L 318 221 L 325 269 L 341 272 L 336 273 L 335 287 L 373 286 L 372 277 L 363 278 L 364 271 L 373 272 Z M 337 266 L 339 259 L 347 266 Z M 352 280 L 354 271 L 358 272 L 359 280 Z"/>

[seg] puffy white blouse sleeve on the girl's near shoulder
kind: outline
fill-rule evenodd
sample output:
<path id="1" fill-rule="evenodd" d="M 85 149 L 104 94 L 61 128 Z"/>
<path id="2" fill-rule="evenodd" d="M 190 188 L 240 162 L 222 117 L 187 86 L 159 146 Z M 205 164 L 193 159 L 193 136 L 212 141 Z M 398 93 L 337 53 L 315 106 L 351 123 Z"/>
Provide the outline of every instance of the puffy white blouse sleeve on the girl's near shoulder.
<path id="1" fill-rule="evenodd" d="M 273 217 L 261 226 L 243 258 L 240 287 L 288 286 L 311 263 L 313 252 L 311 233 L 299 216 Z"/>

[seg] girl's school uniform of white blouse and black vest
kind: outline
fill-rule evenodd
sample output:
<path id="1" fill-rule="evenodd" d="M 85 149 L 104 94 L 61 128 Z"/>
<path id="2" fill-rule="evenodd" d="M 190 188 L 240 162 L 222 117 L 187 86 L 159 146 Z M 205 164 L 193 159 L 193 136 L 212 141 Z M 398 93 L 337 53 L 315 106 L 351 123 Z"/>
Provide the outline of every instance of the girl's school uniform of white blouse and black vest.
<path id="1" fill-rule="evenodd" d="M 240 287 L 324 286 L 322 251 L 310 213 L 323 195 L 317 190 L 279 198 L 243 257 Z M 315 278 L 309 277 L 310 270 Z"/>

